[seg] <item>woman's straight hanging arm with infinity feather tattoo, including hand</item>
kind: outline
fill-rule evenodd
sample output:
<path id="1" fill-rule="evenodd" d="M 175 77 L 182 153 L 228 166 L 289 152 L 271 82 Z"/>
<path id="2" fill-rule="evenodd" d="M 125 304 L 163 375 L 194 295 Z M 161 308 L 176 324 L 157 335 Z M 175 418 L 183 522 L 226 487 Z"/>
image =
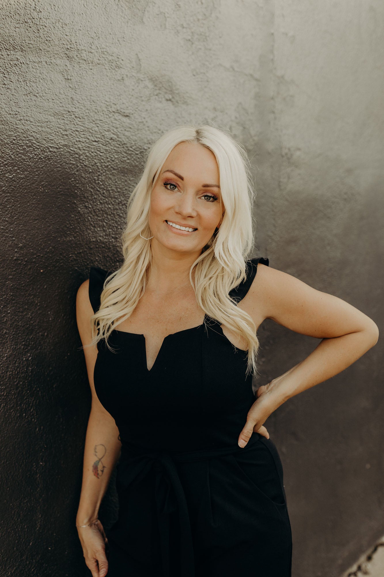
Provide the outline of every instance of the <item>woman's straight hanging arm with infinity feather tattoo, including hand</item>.
<path id="1" fill-rule="evenodd" d="M 76 297 L 77 328 L 83 346 L 91 343 L 91 316 L 93 309 L 88 295 L 89 280 L 78 288 Z M 88 525 L 97 519 L 99 507 L 108 488 L 112 471 L 120 455 L 119 430 L 110 413 L 104 409 L 95 392 L 93 369 L 97 347 L 85 347 L 84 356 L 92 393 L 91 413 L 86 429 L 84 462 L 80 503 L 76 525 Z M 86 566 L 92 577 L 103 577 L 108 569 L 106 557 L 107 539 L 101 522 L 87 527 L 78 527 Z"/>

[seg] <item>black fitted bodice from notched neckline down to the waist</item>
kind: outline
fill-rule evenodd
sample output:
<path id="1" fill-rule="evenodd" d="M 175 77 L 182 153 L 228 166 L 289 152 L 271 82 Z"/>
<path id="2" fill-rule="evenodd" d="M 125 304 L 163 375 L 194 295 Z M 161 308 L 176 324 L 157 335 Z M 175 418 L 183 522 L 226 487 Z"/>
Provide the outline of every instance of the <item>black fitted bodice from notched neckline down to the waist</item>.
<path id="1" fill-rule="evenodd" d="M 166 336 L 150 370 L 144 335 L 114 330 L 108 342 L 112 351 L 97 343 L 93 380 L 123 438 L 172 450 L 236 442 L 254 402 L 252 376 L 247 353 L 217 321 Z"/>

